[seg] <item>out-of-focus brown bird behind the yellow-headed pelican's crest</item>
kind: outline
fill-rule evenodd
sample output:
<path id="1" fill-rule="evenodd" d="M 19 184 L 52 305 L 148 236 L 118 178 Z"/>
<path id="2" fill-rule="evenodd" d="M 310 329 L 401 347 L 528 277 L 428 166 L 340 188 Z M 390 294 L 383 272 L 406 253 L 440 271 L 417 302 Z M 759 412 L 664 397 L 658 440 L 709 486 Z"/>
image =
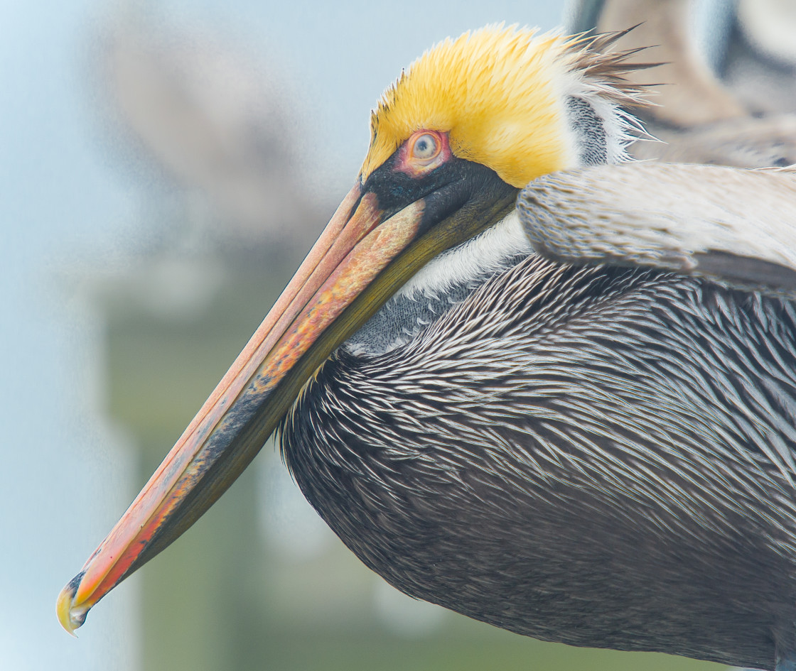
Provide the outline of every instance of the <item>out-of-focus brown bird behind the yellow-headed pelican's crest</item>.
<path id="1" fill-rule="evenodd" d="M 739 48 L 743 50 L 739 36 L 743 23 L 779 20 L 780 33 L 787 33 L 784 7 L 777 12 L 768 2 L 712 3 L 710 34 L 704 37 L 714 43 L 708 51 L 727 54 L 732 69 L 728 81 L 713 72 L 704 49 L 697 45 L 693 19 L 698 4 L 694 0 L 572 2 L 569 27 L 573 33 L 589 29 L 605 33 L 638 24 L 616 48 L 638 49 L 628 62 L 652 58 L 661 63 L 630 75 L 633 83 L 648 87 L 657 103 L 640 109 L 638 118 L 650 134 L 664 141 L 637 142 L 630 148 L 633 157 L 736 168 L 796 162 L 796 109 L 787 102 L 793 73 L 783 72 L 773 62 L 765 64 L 738 54 Z M 762 44 L 777 43 L 773 35 L 768 40 L 761 37 Z M 656 46 L 644 48 L 649 45 Z"/>

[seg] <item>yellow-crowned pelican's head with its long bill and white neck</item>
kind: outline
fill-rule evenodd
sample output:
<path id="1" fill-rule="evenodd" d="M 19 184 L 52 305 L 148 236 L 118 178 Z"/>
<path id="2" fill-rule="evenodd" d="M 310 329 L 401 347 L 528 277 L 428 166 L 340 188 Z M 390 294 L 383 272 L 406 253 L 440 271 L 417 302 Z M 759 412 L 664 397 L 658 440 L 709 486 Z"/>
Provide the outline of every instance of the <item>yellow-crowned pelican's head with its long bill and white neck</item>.
<path id="1" fill-rule="evenodd" d="M 626 159 L 633 120 L 620 106 L 639 103 L 640 91 L 622 80 L 623 55 L 604 53 L 610 45 L 610 37 L 491 26 L 443 41 L 401 74 L 373 111 L 361 173 L 326 230 L 61 592 L 65 629 L 81 626 L 108 591 L 208 510 L 279 423 L 291 421 L 295 402 L 341 345 L 384 351 L 400 342 L 381 333 L 374 345 L 371 337 L 388 301 L 419 282 L 466 285 L 513 254 L 529 254 L 514 210 L 521 187 Z"/>

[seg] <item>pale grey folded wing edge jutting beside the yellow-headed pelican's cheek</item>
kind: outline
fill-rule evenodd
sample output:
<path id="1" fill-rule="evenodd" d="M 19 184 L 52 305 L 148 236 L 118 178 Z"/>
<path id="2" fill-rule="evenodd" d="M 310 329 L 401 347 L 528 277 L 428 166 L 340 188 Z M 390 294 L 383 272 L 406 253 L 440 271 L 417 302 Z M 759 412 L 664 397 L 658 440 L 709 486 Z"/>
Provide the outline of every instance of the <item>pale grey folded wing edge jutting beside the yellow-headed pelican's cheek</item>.
<path id="1" fill-rule="evenodd" d="M 627 163 L 533 180 L 517 211 L 539 254 L 650 266 L 796 298 L 796 171 Z"/>

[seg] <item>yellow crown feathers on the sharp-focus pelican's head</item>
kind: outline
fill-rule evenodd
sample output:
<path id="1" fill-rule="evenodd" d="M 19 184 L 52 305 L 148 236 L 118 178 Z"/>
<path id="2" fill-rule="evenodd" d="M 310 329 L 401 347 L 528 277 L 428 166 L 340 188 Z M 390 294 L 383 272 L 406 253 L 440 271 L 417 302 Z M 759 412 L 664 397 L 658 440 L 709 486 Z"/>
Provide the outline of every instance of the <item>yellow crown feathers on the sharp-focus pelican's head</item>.
<path id="1" fill-rule="evenodd" d="M 450 133 L 453 153 L 522 187 L 575 161 L 562 89 L 572 42 L 489 26 L 427 51 L 371 116 L 363 180 L 416 130 Z"/>

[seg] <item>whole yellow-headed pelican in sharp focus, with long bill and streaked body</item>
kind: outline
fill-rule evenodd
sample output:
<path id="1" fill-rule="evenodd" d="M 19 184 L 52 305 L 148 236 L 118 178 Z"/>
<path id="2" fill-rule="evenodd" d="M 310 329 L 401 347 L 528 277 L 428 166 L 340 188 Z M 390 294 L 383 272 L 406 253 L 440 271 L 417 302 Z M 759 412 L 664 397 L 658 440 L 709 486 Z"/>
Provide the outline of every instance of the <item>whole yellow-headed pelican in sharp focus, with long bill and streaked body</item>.
<path id="1" fill-rule="evenodd" d="M 409 595 L 796 669 L 796 178 L 629 161 L 615 37 L 491 26 L 384 93 L 328 227 L 61 592 L 67 630 L 276 432 Z"/>

